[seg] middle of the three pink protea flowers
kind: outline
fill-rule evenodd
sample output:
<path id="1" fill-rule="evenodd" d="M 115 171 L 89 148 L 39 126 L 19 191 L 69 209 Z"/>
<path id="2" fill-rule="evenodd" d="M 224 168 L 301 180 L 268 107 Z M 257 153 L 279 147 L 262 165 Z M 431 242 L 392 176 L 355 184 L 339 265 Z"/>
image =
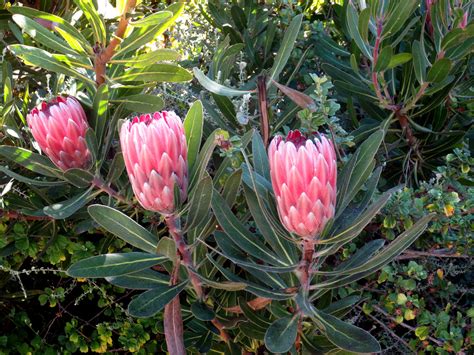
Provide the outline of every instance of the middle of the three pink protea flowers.
<path id="1" fill-rule="evenodd" d="M 174 112 L 155 112 L 126 121 L 120 144 L 133 192 L 150 211 L 175 211 L 174 186 L 184 201 L 188 187 L 188 147 L 183 123 Z"/>

